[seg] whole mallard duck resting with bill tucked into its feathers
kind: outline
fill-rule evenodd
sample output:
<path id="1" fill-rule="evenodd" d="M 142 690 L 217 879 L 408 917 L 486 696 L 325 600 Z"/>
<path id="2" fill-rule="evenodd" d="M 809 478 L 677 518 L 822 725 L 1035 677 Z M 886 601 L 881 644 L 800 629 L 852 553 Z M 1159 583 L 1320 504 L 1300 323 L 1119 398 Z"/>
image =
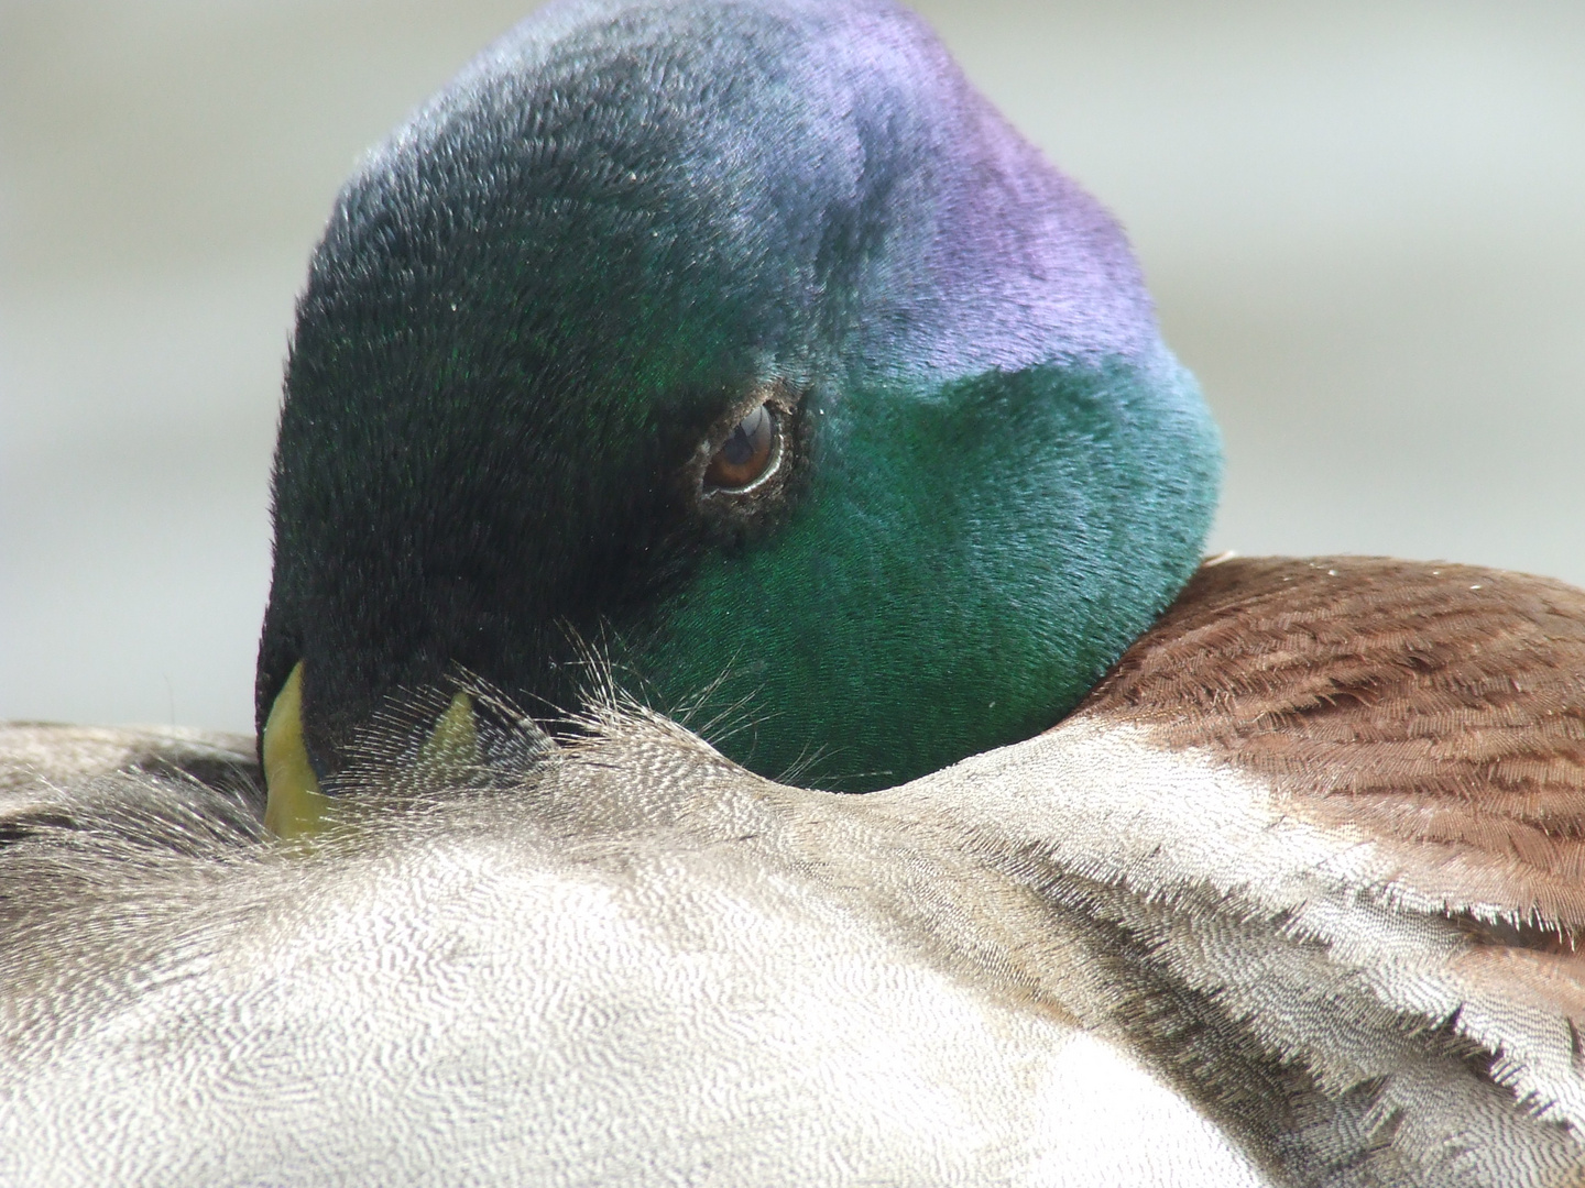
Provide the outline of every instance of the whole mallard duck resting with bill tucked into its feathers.
<path id="1" fill-rule="evenodd" d="M 915 17 L 544 10 L 314 253 L 257 752 L 0 737 L 0 1182 L 1580 1183 L 1585 594 L 1217 469 Z"/>

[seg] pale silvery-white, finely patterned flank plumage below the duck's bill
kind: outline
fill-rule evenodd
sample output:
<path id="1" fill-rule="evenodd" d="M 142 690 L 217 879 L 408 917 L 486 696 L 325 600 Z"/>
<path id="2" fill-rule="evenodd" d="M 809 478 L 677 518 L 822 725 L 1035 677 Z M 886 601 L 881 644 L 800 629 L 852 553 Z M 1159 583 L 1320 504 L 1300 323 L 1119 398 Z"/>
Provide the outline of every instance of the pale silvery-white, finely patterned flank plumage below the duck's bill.
<path id="1" fill-rule="evenodd" d="M 81 811 L 10 854 L 33 892 L 90 885 L 10 922 L 0 1178 L 1265 1182 L 1127 1047 L 964 977 L 927 930 L 1029 897 L 975 892 L 934 830 L 661 721 L 550 762 L 369 800 L 369 836 L 307 859 L 246 830 L 151 851 Z"/>

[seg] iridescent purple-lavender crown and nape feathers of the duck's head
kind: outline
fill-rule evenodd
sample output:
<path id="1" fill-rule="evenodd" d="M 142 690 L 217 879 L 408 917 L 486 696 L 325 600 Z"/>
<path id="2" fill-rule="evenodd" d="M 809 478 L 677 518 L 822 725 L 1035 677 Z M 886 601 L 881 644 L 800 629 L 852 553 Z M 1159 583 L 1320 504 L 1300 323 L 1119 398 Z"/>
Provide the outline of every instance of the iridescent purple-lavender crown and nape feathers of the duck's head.
<path id="1" fill-rule="evenodd" d="M 651 59 L 637 74 L 650 90 L 631 95 L 623 125 L 594 130 L 604 163 L 620 171 L 647 160 L 644 138 L 664 143 L 672 158 L 634 173 L 658 182 L 650 201 L 669 190 L 678 219 L 704 222 L 688 228 L 689 250 L 718 255 L 745 285 L 758 279 L 754 304 L 827 307 L 823 337 L 854 380 L 1163 358 L 1111 215 L 889 0 L 552 3 L 487 48 L 371 157 L 365 177 L 412 168 L 411 154 L 433 152 L 456 122 L 495 120 L 498 133 L 515 125 L 533 139 L 534 106 L 564 93 L 563 82 L 586 86 L 640 55 Z M 688 122 L 682 138 L 674 120 Z M 845 227 L 848 261 L 834 271 L 823 252 Z M 845 299 L 815 291 L 834 284 Z M 854 317 L 831 325 L 834 304 Z M 783 344 L 766 345 L 777 355 Z"/>

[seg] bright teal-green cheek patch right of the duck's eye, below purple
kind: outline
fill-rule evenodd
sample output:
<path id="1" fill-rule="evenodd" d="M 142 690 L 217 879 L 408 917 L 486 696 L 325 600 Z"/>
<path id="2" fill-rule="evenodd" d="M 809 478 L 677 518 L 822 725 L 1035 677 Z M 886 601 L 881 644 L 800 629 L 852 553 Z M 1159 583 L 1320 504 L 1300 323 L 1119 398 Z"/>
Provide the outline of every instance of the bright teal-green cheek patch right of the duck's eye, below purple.
<path id="1" fill-rule="evenodd" d="M 1217 432 L 1176 366 L 848 393 L 815 421 L 802 508 L 705 559 L 634 665 L 735 721 L 718 744 L 764 775 L 869 790 L 1052 725 L 1189 580 L 1216 507 Z"/>

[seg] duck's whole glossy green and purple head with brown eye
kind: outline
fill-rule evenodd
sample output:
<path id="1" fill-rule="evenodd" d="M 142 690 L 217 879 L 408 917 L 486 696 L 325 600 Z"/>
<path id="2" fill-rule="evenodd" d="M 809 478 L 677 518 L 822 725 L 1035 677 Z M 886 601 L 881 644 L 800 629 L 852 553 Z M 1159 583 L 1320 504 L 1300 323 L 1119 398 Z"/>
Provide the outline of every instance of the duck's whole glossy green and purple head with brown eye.
<path id="1" fill-rule="evenodd" d="M 1117 225 L 915 16 L 552 5 L 314 252 L 258 722 L 331 781 L 399 691 L 552 713 L 594 643 L 747 767 L 875 789 L 1070 710 L 1217 478 Z"/>

